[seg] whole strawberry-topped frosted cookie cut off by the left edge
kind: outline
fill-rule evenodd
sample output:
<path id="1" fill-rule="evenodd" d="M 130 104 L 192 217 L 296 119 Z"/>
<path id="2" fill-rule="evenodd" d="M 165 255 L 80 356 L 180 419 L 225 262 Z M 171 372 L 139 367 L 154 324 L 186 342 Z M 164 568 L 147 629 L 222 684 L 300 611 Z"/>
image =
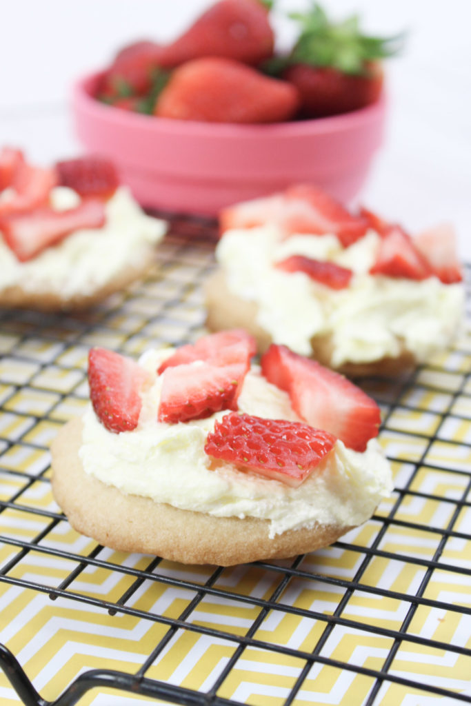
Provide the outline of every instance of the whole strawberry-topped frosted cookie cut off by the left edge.
<path id="1" fill-rule="evenodd" d="M 37 167 L 0 150 L 0 306 L 93 306 L 143 275 L 164 233 L 109 159 Z"/>

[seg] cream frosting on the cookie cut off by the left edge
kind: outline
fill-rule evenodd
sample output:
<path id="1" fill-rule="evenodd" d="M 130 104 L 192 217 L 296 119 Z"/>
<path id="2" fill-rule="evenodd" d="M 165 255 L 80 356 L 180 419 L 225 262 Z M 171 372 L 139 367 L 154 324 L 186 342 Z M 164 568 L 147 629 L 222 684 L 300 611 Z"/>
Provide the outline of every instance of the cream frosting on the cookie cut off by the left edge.
<path id="1" fill-rule="evenodd" d="M 76 208 L 80 202 L 78 193 L 65 186 L 55 187 L 49 196 L 54 210 Z M 126 268 L 143 267 L 165 234 L 165 222 L 145 215 L 124 186 L 109 198 L 105 213 L 103 227 L 71 233 L 24 263 L 4 243 L 0 230 L 0 289 L 18 285 L 26 292 L 54 292 L 68 299 L 93 294 Z"/>

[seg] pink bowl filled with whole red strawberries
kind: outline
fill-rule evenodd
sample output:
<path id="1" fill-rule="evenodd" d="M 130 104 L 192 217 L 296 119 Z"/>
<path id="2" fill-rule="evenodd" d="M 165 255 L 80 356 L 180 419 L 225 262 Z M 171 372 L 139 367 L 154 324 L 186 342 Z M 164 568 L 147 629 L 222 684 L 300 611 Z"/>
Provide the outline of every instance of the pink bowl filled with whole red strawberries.
<path id="1" fill-rule="evenodd" d="M 321 42 L 338 43 L 342 32 L 328 28 Z M 304 88 L 292 76 L 303 69 L 297 47 L 305 33 L 280 56 L 266 4 L 220 0 L 169 44 L 135 42 L 105 71 L 80 80 L 73 94 L 78 138 L 116 160 L 147 208 L 215 216 L 299 181 L 350 200 L 383 140 L 381 58 L 398 42 L 361 35 L 361 47 L 369 46 L 361 76 L 347 72 L 342 80 L 347 94 L 363 97 L 318 117 L 306 111 Z M 381 82 L 365 92 L 373 73 Z"/>

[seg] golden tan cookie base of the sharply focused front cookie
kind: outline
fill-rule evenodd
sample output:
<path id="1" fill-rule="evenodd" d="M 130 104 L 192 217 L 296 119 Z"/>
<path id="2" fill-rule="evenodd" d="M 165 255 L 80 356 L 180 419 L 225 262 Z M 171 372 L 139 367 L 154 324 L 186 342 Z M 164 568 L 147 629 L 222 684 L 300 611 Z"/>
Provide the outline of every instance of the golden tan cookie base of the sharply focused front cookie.
<path id="1" fill-rule="evenodd" d="M 268 537 L 268 520 L 213 517 L 126 495 L 85 473 L 78 450 L 82 421 L 68 421 L 52 443 L 52 492 L 72 527 L 119 551 L 189 564 L 233 566 L 289 558 L 332 544 L 352 529 L 316 525 Z"/>

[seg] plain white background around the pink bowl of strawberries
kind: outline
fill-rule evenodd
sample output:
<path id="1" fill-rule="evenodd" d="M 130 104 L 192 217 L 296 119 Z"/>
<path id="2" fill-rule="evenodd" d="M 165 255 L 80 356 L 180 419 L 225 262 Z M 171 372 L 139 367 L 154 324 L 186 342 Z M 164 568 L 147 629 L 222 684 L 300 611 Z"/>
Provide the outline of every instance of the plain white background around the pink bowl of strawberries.
<path id="1" fill-rule="evenodd" d="M 47 163 L 80 151 L 69 119 L 71 83 L 136 39 L 166 41 L 211 0 L 0 0 L 0 145 Z M 278 0 L 280 44 L 292 37 Z M 412 232 L 452 221 L 471 261 L 471 0 L 325 0 L 333 16 L 408 33 L 388 62 L 386 143 L 359 200 Z"/>

